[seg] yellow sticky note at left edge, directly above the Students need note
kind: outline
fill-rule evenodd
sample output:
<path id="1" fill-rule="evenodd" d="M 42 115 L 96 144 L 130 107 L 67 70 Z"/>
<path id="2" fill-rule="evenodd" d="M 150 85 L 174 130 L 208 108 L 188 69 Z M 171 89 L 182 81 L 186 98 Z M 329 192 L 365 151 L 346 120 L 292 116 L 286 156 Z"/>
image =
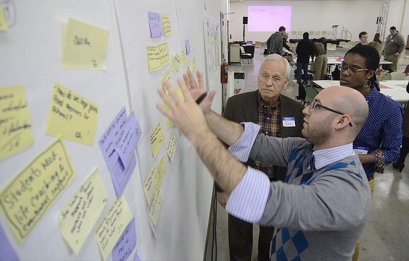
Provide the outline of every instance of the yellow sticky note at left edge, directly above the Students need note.
<path id="1" fill-rule="evenodd" d="M 33 130 L 24 85 L 0 88 L 0 159 L 32 144 Z"/>

